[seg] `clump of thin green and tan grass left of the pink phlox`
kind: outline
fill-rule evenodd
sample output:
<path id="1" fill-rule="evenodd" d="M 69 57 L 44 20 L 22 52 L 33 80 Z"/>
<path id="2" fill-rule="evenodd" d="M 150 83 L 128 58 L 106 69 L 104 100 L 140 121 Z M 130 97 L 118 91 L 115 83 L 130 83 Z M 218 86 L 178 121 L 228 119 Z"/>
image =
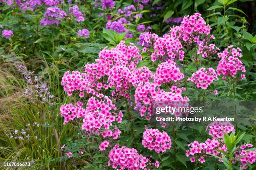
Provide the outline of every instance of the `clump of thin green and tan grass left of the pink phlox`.
<path id="1" fill-rule="evenodd" d="M 5 162 L 30 162 L 33 167 L 64 168 L 69 165 L 64 162 L 52 161 L 61 156 L 60 145 L 64 139 L 72 137 L 75 129 L 69 125 L 63 125 L 59 117 L 61 101 L 67 101 L 67 97 L 61 92 L 59 70 L 56 65 L 49 67 L 46 62 L 44 74 L 39 75 L 41 83 L 49 86 L 50 92 L 55 96 L 53 105 L 41 102 L 36 96 L 24 96 L 24 92 L 31 86 L 23 75 L 19 73 L 13 63 L 0 65 L 0 161 Z M 48 80 L 48 81 L 46 81 Z M 33 88 L 29 87 L 29 88 Z M 33 97 L 33 102 L 30 100 Z M 61 97 L 61 100 L 59 98 Z M 34 124 L 33 124 L 34 123 Z M 28 126 L 30 124 L 30 126 Z M 34 125 L 34 126 L 33 126 Z M 10 133 L 27 130 L 29 138 L 23 140 L 11 137 Z"/>

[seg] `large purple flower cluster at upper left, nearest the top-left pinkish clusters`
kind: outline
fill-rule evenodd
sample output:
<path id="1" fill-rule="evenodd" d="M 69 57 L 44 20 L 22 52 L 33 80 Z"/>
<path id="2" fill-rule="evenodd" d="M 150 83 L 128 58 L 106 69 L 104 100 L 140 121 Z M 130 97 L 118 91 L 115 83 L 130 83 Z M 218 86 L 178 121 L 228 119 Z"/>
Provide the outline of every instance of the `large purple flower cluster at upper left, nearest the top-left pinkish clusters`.
<path id="1" fill-rule="evenodd" d="M 40 23 L 44 27 L 52 24 L 59 25 L 60 20 L 64 18 L 64 16 L 67 16 L 67 14 L 64 10 L 60 10 L 59 7 L 48 7 Z"/>

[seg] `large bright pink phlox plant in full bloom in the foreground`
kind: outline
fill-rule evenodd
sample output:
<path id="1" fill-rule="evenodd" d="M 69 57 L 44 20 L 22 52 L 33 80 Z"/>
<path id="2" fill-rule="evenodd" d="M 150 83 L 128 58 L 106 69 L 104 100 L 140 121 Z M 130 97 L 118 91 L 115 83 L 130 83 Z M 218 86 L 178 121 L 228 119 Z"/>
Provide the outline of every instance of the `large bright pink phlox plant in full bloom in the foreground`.
<path id="1" fill-rule="evenodd" d="M 85 134 L 99 139 L 98 153 L 104 153 L 106 156 L 105 159 L 102 158 L 105 168 L 164 169 L 162 155 L 172 154 L 171 137 L 153 126 L 144 130 L 141 140 L 140 133 L 135 130 L 136 118 L 144 122 L 142 125 L 148 126 L 146 120 L 151 120 L 153 102 L 189 101 L 189 93 L 182 94 L 187 88 L 201 91 L 202 100 L 205 101 L 206 92 L 209 95 L 218 95 L 212 84 L 219 81 L 219 78 L 233 84 L 234 80 L 244 78 L 241 72 L 246 70 L 239 59 L 242 57 L 241 49 L 230 45 L 221 51 L 212 43 L 215 37 L 210 34 L 210 30 L 200 13 L 188 15 L 183 18 L 181 25 L 170 28 L 162 37 L 151 32 L 142 33 L 138 43 L 144 47 L 142 51 L 131 42 L 120 41 L 116 47 L 103 48 L 95 62 L 87 63 L 82 72 L 64 73 L 61 81 L 64 91 L 68 95 L 77 95 L 77 104 L 61 106 L 64 123 L 78 122 Z M 194 53 L 192 57 L 187 56 L 189 52 Z M 151 57 L 153 67 L 138 67 L 140 62 L 143 62 L 142 54 Z M 187 71 L 189 67 L 194 67 L 192 70 L 195 71 Z M 233 93 L 236 98 L 235 90 Z M 82 102 L 86 103 L 85 107 L 82 107 Z M 140 113 L 141 117 L 136 115 L 136 112 Z M 177 113 L 176 116 L 182 115 Z M 126 128 L 122 128 L 122 121 L 128 123 Z M 165 125 L 162 125 L 162 128 L 164 127 Z M 205 159 L 213 154 L 218 156 L 220 162 L 226 164 L 222 154 L 231 151 L 225 135 L 234 132 L 234 126 L 229 122 L 213 122 L 208 128 L 212 139 L 208 138 L 202 143 L 190 143 L 188 147 L 191 148 L 184 155 L 192 155 L 189 158 L 192 163 L 199 161 L 203 164 Z M 173 127 L 174 154 L 177 152 L 177 145 L 184 148 L 183 144 L 176 141 L 177 135 L 179 136 L 175 133 L 176 130 Z M 123 133 L 131 138 L 131 143 L 127 146 L 123 143 Z M 155 152 L 159 158 L 154 156 L 155 162 L 152 163 L 152 155 L 145 157 L 143 152 L 140 154 L 143 149 L 137 150 L 139 145 L 152 150 L 153 156 Z M 244 146 L 247 145 L 252 147 L 251 144 Z M 254 151 L 247 152 L 243 147 L 242 150 L 235 148 L 232 152 L 236 155 L 229 159 L 235 157 L 233 162 L 240 161 L 240 168 L 247 168 L 248 162 L 255 162 Z M 71 152 L 66 155 L 68 158 L 72 157 Z M 241 155 L 247 156 L 241 158 Z M 175 156 L 174 161 L 175 159 L 186 165 L 179 156 Z M 228 165 L 230 166 L 230 162 Z"/>

